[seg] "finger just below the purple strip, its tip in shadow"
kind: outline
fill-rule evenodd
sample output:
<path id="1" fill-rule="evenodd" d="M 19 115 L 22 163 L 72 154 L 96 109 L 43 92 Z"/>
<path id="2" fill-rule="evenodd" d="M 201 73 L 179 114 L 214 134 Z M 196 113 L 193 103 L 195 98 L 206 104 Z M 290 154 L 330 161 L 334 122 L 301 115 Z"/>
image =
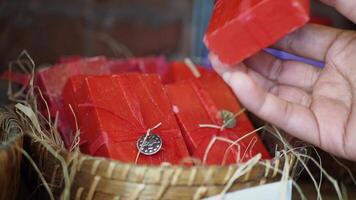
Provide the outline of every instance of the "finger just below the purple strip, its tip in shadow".
<path id="1" fill-rule="evenodd" d="M 246 65 L 266 78 L 282 85 L 312 91 L 320 70 L 298 61 L 282 61 L 266 52 L 260 52 L 245 61 Z"/>

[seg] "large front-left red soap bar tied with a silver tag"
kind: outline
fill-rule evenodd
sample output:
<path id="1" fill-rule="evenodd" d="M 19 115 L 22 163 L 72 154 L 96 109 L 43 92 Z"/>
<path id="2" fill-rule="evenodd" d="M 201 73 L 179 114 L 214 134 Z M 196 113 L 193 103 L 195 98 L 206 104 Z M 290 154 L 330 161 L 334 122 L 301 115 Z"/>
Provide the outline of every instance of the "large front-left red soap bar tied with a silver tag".
<path id="1" fill-rule="evenodd" d="M 67 83 L 65 105 L 77 116 L 85 153 L 135 162 L 137 140 L 149 128 L 162 138 L 155 155 L 140 154 L 139 164 L 179 162 L 189 157 L 171 104 L 157 75 L 76 76 Z M 75 127 L 73 127 L 75 128 Z"/>

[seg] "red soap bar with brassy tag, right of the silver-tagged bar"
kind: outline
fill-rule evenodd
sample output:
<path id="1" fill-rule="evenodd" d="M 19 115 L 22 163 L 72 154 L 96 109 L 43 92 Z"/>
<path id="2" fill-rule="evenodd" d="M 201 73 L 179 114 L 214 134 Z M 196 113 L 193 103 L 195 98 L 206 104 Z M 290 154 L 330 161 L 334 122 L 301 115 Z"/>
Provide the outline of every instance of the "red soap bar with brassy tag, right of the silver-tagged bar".
<path id="1" fill-rule="evenodd" d="M 230 105 L 229 100 L 227 103 L 215 102 L 198 80 L 167 85 L 166 91 L 193 157 L 201 159 L 206 164 L 217 165 L 247 161 L 258 153 L 262 154 L 263 159 L 270 158 L 256 133 L 244 136 L 254 130 L 244 114 L 236 118 L 235 127 L 225 128 L 223 131 L 216 128 L 200 127 L 200 125 L 221 126 L 223 124 L 220 117 L 220 111 L 223 110 L 221 108 L 238 108 L 237 101 Z M 223 103 L 226 107 L 219 108 L 219 103 Z M 229 111 L 234 112 L 236 109 Z M 230 142 L 221 140 L 213 142 L 214 136 L 227 139 Z M 240 140 L 242 137 L 244 139 Z M 232 145 L 237 140 L 240 140 L 236 143 L 237 145 Z M 208 147 L 212 144 L 213 146 L 209 150 Z"/>

